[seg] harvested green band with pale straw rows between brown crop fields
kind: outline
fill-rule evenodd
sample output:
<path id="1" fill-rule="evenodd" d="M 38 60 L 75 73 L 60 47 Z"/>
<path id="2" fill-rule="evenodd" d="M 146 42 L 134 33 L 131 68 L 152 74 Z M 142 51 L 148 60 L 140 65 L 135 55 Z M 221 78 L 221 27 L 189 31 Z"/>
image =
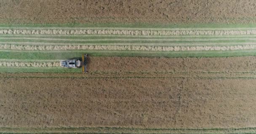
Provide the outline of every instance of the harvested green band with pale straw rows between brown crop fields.
<path id="1" fill-rule="evenodd" d="M 5 67 L 55 68 L 59 63 L 37 64 L 37 59 L 77 59 L 84 53 L 90 56 L 139 57 L 229 57 L 256 54 L 255 26 L 106 26 L 2 24 L 0 60 L 32 61 L 1 62 L 1 70 L 10 70 Z"/>

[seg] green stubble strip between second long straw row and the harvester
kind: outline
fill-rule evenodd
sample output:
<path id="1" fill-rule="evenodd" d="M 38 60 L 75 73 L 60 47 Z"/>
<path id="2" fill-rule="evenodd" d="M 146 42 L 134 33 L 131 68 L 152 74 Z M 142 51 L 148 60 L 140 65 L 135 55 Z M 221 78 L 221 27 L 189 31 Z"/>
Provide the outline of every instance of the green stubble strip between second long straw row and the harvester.
<path id="1" fill-rule="evenodd" d="M 256 50 L 236 51 L 181 51 L 181 52 L 145 52 L 145 51 L 0 51 L 0 59 L 72 59 L 80 58 L 82 54 L 103 57 L 238 57 L 255 56 Z"/>

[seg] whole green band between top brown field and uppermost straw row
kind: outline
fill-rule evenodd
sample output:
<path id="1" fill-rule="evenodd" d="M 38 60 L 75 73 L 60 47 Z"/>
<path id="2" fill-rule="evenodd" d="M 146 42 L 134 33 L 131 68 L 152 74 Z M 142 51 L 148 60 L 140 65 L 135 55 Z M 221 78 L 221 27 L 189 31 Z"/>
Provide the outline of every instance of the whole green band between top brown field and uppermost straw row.
<path id="1" fill-rule="evenodd" d="M 216 29 L 243 30 L 256 28 L 254 23 L 0 23 L 3 28 L 122 28 L 122 29 Z"/>

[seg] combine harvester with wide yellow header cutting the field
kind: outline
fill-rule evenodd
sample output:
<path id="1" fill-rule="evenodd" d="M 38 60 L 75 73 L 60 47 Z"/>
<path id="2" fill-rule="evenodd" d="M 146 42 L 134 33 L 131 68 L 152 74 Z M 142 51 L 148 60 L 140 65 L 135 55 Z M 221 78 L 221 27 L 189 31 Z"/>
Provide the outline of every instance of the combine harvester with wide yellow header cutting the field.
<path id="1" fill-rule="evenodd" d="M 66 68 L 79 68 L 82 66 L 82 72 L 87 73 L 87 54 L 82 55 L 82 62 L 77 59 L 68 59 L 60 61 L 61 67 Z"/>

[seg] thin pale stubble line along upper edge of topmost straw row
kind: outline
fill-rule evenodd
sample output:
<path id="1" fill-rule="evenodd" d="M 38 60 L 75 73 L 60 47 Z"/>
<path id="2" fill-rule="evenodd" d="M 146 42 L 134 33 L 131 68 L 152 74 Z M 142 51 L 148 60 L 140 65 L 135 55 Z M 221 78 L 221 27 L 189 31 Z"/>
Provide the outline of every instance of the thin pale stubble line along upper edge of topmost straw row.
<path id="1" fill-rule="evenodd" d="M 244 28 L 127 28 L 127 27 L 0 27 L 0 29 L 19 29 L 19 30 L 164 30 L 164 31 L 173 31 L 173 30 L 256 30 L 256 27 L 244 27 Z"/>

